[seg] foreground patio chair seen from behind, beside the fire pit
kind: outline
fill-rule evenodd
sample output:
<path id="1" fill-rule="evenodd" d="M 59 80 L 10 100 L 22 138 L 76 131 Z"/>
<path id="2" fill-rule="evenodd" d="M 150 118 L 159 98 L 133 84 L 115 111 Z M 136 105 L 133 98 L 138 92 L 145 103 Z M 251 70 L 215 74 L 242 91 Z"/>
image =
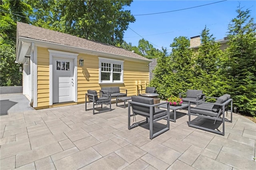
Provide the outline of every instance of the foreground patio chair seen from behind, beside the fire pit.
<path id="1" fill-rule="evenodd" d="M 167 105 L 167 111 L 156 108 L 157 106 L 163 105 L 163 104 Z M 131 107 L 132 107 L 133 115 L 131 115 Z M 135 115 L 146 117 L 146 120 L 138 121 L 130 125 L 130 117 Z M 154 100 L 150 97 L 132 96 L 132 101 L 128 102 L 128 129 L 130 130 L 134 127 L 144 125 L 148 123 L 148 119 L 149 119 L 149 138 L 150 139 L 169 130 L 170 129 L 170 103 L 164 102 L 164 103 L 154 104 Z M 162 119 L 167 120 L 166 127 L 158 132 L 153 133 L 154 123 Z"/>

